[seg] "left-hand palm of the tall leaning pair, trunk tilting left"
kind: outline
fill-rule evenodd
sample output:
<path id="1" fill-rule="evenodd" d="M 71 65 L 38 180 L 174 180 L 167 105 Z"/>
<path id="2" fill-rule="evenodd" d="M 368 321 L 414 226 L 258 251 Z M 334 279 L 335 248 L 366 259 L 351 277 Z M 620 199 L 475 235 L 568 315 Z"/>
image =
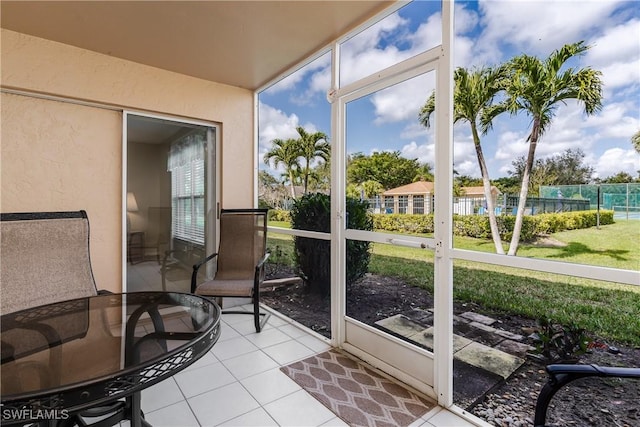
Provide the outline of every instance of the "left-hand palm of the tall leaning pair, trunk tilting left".
<path id="1" fill-rule="evenodd" d="M 491 121 L 499 114 L 500 110 L 495 110 L 491 114 L 489 110 L 493 105 L 493 99 L 501 90 L 501 81 L 505 77 L 506 68 L 479 68 L 469 72 L 467 69 L 459 67 L 453 74 L 453 115 L 454 123 L 466 121 L 471 126 L 473 145 L 476 149 L 476 157 L 482 175 L 482 186 L 485 199 L 487 201 L 487 211 L 489 214 L 489 225 L 491 236 L 496 247 L 496 253 L 504 254 L 498 221 L 496 219 L 493 194 L 491 193 L 491 181 L 489 171 L 482 152 L 480 134 L 486 134 L 491 127 Z M 432 93 L 426 104 L 420 110 L 418 120 L 425 127 L 429 127 L 431 114 L 435 111 L 435 93 Z"/>

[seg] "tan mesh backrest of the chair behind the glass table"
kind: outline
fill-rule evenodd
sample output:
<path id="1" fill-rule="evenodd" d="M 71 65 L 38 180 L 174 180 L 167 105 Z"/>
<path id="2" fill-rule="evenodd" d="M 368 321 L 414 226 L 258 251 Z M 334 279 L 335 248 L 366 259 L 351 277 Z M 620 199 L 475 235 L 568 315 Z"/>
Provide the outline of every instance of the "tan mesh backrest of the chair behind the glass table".
<path id="1" fill-rule="evenodd" d="M 3 213 L 0 311 L 97 294 L 85 211 Z"/>

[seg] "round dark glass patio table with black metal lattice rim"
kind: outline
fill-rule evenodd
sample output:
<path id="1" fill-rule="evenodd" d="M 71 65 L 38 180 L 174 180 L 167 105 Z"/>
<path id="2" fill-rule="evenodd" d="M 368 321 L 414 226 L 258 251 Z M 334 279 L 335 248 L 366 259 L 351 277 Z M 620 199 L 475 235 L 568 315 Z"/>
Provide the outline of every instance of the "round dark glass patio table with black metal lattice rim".
<path id="1" fill-rule="evenodd" d="M 220 308 L 177 292 L 101 294 L 0 318 L 3 425 L 148 425 L 140 391 L 220 336 Z M 97 418 L 96 418 L 97 417 Z"/>

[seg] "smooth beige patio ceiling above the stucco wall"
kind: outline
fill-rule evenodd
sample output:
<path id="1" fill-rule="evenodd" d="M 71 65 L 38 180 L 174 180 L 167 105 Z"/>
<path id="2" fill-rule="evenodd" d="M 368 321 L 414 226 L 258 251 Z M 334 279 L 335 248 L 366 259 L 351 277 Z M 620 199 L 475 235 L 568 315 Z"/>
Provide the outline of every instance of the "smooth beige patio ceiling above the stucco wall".
<path id="1" fill-rule="evenodd" d="M 1 26 L 258 89 L 394 1 L 7 1 Z"/>

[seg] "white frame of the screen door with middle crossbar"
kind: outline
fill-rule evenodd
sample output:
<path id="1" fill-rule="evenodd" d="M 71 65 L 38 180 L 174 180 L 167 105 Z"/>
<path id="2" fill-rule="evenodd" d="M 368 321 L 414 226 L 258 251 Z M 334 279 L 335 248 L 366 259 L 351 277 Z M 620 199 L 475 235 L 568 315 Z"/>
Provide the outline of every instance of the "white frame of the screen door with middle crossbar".
<path id="1" fill-rule="evenodd" d="M 337 53 L 339 46 L 334 52 Z M 334 53 L 334 54 L 335 54 Z M 437 47 L 355 82 L 344 88 L 332 91 L 332 122 L 334 123 L 332 144 L 332 331 L 336 345 L 366 360 L 373 366 L 397 377 L 414 388 L 437 398 L 434 354 L 411 345 L 403 340 L 383 333 L 346 316 L 346 240 L 366 240 L 424 247 L 436 250 L 436 239 L 413 236 L 397 236 L 372 231 L 348 230 L 345 221 L 346 188 L 346 105 L 348 102 L 393 86 L 428 72 L 435 72 L 437 84 L 439 78 L 442 49 Z M 439 92 L 442 92 L 440 90 Z M 426 94 L 428 95 L 428 94 Z M 426 99 L 426 97 L 425 97 Z M 438 124 L 438 128 L 441 125 Z M 451 164 L 449 162 L 449 164 Z M 446 168 L 445 168 L 446 169 Z M 443 171 L 446 173 L 446 171 Z M 446 180 L 449 182 L 450 180 Z M 447 203 L 445 203 L 447 204 Z M 446 225 L 446 224 L 445 224 Z M 441 244 L 440 244 L 441 246 Z M 439 251 L 440 253 L 440 251 Z M 435 280 L 435 278 L 434 278 Z M 446 306 L 446 304 L 445 304 Z M 449 340 L 452 338 L 450 337 Z"/>

